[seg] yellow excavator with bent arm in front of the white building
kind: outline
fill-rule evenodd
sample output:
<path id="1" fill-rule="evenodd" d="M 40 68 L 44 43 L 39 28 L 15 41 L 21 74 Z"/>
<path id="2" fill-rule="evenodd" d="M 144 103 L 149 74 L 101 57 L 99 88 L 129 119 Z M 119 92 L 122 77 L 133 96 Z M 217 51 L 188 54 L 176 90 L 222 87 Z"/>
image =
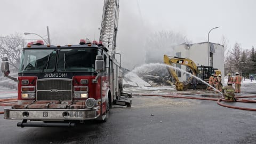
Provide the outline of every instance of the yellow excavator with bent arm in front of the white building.
<path id="1" fill-rule="evenodd" d="M 189 58 L 179 58 L 164 55 L 164 63 L 170 66 L 173 66 L 173 63 L 187 66 L 190 68 L 189 72 L 191 74 L 201 78 L 205 82 L 209 81 L 209 77 L 212 74 L 221 74 L 220 70 L 210 66 L 196 66 L 196 63 L 193 60 L 190 60 Z M 180 82 L 177 73 L 172 67 L 167 67 L 167 70 L 169 71 L 169 74 L 174 78 L 174 85 L 176 86 L 176 90 L 186 91 L 189 88 L 192 77 L 189 77 L 187 81 Z M 205 83 L 198 81 L 197 89 L 206 89 L 206 87 L 207 85 Z"/>

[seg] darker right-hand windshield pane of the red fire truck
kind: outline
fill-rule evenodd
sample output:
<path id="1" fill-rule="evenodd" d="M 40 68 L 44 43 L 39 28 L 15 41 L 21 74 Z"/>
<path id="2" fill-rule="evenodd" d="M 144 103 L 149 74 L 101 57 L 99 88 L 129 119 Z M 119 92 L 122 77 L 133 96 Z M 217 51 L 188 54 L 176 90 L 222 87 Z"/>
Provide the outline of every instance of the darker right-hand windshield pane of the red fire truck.
<path id="1" fill-rule="evenodd" d="M 85 71 L 94 72 L 96 55 L 100 51 L 95 49 L 61 49 L 58 54 L 57 71 Z"/>

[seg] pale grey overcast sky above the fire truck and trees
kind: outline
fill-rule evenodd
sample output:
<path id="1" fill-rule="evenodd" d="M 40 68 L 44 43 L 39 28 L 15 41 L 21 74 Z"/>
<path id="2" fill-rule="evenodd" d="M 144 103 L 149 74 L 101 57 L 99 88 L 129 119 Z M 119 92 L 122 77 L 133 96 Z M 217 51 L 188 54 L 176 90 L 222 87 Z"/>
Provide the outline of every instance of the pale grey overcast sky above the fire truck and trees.
<path id="1" fill-rule="evenodd" d="M 119 0 L 119 5 L 117 51 L 127 68 L 143 63 L 143 42 L 155 31 L 173 30 L 199 43 L 219 27 L 211 31 L 210 42 L 220 43 L 225 36 L 231 47 L 235 42 L 243 49 L 256 46 L 254 0 Z M 54 45 L 78 44 L 86 37 L 98 40 L 102 9 L 103 0 L 1 0 L 0 36 L 31 32 L 47 38 L 49 26 Z M 131 62 L 134 57 L 138 59 Z"/>

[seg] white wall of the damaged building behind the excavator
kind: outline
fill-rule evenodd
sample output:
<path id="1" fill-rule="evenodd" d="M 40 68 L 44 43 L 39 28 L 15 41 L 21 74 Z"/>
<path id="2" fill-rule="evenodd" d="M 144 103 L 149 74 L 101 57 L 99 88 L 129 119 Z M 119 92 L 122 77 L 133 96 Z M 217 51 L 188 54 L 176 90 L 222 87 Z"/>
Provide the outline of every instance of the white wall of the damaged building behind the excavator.
<path id="1" fill-rule="evenodd" d="M 224 47 L 220 44 L 213 43 L 215 52 L 213 53 L 213 68 L 218 68 L 222 74 L 222 83 L 224 83 Z M 174 47 L 174 55 L 180 52 L 181 58 L 189 58 L 193 60 L 197 66 L 209 66 L 208 65 L 208 43 L 196 43 L 196 44 L 180 44 Z M 167 54 L 169 55 L 169 54 Z M 210 60 L 210 59 L 209 59 Z M 185 66 L 181 67 L 186 70 Z M 180 81 L 186 81 L 187 75 L 181 74 Z"/>

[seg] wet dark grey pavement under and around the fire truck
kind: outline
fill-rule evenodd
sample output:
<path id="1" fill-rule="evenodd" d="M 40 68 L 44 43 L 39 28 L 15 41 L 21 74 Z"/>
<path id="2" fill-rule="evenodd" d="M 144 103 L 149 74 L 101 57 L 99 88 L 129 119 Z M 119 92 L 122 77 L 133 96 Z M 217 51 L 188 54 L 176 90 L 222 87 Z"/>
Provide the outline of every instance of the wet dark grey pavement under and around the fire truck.
<path id="1" fill-rule="evenodd" d="M 256 84 L 240 96 L 256 95 Z M 205 91 L 137 91 L 184 97 L 221 97 Z M 135 93 L 133 91 L 133 93 Z M 186 93 L 186 94 L 185 94 Z M 226 102 L 255 107 L 255 103 Z M 17 127 L 20 120 L 0 115 L 0 143 L 256 143 L 256 112 L 231 109 L 216 101 L 133 96 L 131 108 L 115 106 L 106 123 L 87 121 L 73 128 Z"/>

